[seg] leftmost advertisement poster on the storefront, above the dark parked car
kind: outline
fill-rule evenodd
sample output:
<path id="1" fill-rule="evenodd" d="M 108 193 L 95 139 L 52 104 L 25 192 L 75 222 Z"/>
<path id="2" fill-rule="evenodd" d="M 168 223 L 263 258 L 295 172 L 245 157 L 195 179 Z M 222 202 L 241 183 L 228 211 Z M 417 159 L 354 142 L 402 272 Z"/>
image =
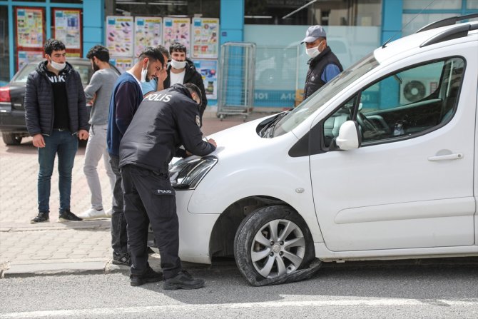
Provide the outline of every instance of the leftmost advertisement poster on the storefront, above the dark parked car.
<path id="1" fill-rule="evenodd" d="M 16 9 L 16 46 L 24 48 L 43 48 L 44 43 L 43 9 Z"/>

